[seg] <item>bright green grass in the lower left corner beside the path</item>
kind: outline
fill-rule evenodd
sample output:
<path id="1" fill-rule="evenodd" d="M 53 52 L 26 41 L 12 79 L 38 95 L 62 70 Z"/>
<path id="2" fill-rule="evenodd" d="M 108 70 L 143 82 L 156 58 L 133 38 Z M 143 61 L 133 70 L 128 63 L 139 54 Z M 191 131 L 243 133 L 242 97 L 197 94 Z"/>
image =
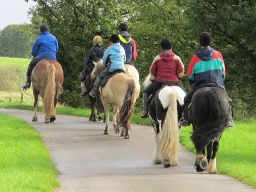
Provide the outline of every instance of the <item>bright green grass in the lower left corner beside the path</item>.
<path id="1" fill-rule="evenodd" d="M 0 113 L 0 191 L 54 191 L 58 175 L 40 134 Z"/>

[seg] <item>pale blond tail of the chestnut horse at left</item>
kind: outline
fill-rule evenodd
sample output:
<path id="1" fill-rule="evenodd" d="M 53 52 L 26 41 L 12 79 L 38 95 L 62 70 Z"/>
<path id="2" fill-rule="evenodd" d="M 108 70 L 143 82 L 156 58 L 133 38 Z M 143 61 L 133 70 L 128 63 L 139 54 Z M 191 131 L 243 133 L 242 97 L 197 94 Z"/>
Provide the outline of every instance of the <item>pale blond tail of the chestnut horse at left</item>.
<path id="1" fill-rule="evenodd" d="M 45 86 L 45 95 L 44 95 L 44 113 L 46 115 L 55 115 L 54 111 L 54 95 L 56 89 L 55 83 L 55 67 L 52 63 L 46 65 L 47 72 L 47 83 Z"/>

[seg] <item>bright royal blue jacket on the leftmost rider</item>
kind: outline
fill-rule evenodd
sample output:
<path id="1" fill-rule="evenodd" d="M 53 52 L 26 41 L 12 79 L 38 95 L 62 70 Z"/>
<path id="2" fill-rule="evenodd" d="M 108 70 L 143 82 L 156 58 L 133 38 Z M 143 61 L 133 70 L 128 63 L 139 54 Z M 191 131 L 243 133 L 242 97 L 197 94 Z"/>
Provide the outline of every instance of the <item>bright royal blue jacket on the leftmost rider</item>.
<path id="1" fill-rule="evenodd" d="M 51 35 L 49 31 L 44 31 L 33 44 L 31 54 L 36 57 L 36 61 L 40 61 L 44 58 L 50 58 L 56 61 L 58 50 L 59 45 L 56 36 Z"/>

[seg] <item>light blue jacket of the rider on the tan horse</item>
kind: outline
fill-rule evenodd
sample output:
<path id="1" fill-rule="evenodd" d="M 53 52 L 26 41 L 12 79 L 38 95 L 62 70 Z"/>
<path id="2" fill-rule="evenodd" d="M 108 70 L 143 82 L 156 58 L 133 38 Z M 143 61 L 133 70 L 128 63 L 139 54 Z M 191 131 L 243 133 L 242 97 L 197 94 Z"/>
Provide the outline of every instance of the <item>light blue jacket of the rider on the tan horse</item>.
<path id="1" fill-rule="evenodd" d="M 112 44 L 103 55 L 103 64 L 108 64 L 110 60 L 109 72 L 114 72 L 115 70 L 122 69 L 125 70 L 124 62 L 126 60 L 124 47 L 120 43 Z"/>

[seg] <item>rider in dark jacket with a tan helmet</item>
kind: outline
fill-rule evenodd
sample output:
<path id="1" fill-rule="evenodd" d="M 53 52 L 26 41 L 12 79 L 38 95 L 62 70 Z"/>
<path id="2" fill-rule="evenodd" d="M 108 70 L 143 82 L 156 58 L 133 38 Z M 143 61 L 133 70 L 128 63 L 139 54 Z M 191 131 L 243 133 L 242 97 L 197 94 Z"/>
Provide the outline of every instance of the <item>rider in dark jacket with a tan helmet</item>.
<path id="1" fill-rule="evenodd" d="M 85 58 L 84 58 L 84 69 L 79 76 L 81 82 L 81 97 L 85 96 L 88 92 L 87 88 L 84 86 L 84 81 L 86 77 L 91 74 L 94 68 L 94 62 L 102 60 L 105 49 L 102 47 L 102 38 L 100 36 L 94 36 L 93 38 L 93 47 L 89 49 Z"/>

